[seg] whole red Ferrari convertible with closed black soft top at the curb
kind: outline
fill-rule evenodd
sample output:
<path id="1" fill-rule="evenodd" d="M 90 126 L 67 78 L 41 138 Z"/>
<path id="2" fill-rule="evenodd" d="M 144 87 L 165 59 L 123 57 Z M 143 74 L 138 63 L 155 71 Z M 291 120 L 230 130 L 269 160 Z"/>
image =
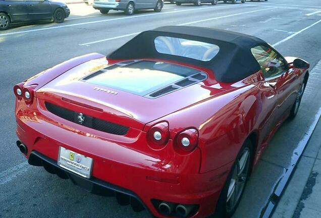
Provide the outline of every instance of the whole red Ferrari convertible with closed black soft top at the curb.
<path id="1" fill-rule="evenodd" d="M 218 29 L 142 32 L 14 86 L 17 146 L 88 191 L 157 217 L 230 217 L 298 113 L 309 64 Z"/>

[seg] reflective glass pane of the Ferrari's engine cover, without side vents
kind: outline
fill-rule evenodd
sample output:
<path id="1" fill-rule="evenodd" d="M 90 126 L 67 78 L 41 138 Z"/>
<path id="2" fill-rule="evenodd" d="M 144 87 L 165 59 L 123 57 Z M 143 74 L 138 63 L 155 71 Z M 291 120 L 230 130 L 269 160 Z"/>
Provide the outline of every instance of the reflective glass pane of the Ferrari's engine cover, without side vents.
<path id="1" fill-rule="evenodd" d="M 139 61 L 111 70 L 106 68 L 83 80 L 143 96 L 196 73 L 199 71 L 180 65 Z"/>

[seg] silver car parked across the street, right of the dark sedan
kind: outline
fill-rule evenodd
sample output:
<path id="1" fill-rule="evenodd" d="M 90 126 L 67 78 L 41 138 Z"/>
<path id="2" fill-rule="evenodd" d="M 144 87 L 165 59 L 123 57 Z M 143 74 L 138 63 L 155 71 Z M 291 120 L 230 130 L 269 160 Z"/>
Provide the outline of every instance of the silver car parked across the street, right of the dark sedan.
<path id="1" fill-rule="evenodd" d="M 136 10 L 154 9 L 155 12 L 162 11 L 163 0 L 94 0 L 92 7 L 102 14 L 110 10 L 125 11 L 126 15 L 133 15 Z"/>

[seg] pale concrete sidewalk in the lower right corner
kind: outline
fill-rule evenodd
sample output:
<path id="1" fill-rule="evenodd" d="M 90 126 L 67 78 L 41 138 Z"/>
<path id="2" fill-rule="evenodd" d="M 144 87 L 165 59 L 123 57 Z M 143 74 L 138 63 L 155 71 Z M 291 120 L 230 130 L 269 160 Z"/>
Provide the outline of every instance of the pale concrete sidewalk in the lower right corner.
<path id="1" fill-rule="evenodd" d="M 321 217 L 321 120 L 272 218 Z"/>

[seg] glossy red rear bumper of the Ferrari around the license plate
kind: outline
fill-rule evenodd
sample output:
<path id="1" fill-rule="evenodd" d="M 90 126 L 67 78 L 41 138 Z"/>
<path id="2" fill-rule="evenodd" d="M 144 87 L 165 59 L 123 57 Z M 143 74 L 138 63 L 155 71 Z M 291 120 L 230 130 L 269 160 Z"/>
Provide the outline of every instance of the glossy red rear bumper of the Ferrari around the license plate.
<path id="1" fill-rule="evenodd" d="M 67 175 L 76 185 L 95 194 L 104 193 L 104 189 L 126 194 L 142 202 L 156 217 L 166 216 L 158 212 L 153 199 L 197 205 L 198 210 L 190 217 L 206 217 L 213 213 L 230 168 L 225 166 L 200 174 L 199 149 L 185 156 L 180 163 L 175 162 L 178 156 L 169 161 L 71 127 L 65 127 L 66 130 L 39 112 L 25 110 L 16 116 L 16 120 L 17 136 L 27 146 L 25 156 L 32 165 L 42 166 L 46 162 L 59 169 L 58 175 Z M 93 158 L 91 179 L 81 178 L 57 166 L 60 146 Z M 171 144 L 167 146 L 172 147 Z M 36 164 L 33 159 L 41 159 L 41 164 Z"/>

